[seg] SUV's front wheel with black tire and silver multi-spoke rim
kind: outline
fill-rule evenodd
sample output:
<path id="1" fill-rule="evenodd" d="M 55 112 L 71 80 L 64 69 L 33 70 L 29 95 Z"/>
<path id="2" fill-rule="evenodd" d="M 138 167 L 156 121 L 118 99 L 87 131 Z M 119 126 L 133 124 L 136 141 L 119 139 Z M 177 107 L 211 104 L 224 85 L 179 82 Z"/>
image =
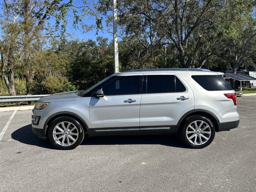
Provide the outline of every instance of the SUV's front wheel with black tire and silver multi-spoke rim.
<path id="1" fill-rule="evenodd" d="M 48 138 L 55 148 L 71 150 L 84 140 L 84 129 L 74 118 L 59 117 L 51 123 Z"/>

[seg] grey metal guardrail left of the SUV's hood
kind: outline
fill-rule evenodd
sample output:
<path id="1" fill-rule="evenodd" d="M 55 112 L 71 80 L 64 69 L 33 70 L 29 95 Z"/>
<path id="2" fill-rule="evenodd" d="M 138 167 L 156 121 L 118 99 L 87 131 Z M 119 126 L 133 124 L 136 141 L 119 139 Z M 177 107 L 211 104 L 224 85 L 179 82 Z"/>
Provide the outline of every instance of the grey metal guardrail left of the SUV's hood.
<path id="1" fill-rule="evenodd" d="M 37 101 L 41 97 L 49 95 L 18 95 L 18 96 L 0 96 L 0 103 L 19 102 L 19 101 Z"/>

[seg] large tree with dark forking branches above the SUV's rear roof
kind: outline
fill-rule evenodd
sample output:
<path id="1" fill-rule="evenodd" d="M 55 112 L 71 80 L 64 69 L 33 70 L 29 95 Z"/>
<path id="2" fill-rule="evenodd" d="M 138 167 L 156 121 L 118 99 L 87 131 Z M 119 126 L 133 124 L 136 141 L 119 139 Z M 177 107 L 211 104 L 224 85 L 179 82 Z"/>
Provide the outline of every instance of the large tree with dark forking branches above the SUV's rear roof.
<path id="1" fill-rule="evenodd" d="M 216 53 L 222 0 L 164 1 L 160 34 L 178 51 L 181 67 L 202 67 Z"/>

